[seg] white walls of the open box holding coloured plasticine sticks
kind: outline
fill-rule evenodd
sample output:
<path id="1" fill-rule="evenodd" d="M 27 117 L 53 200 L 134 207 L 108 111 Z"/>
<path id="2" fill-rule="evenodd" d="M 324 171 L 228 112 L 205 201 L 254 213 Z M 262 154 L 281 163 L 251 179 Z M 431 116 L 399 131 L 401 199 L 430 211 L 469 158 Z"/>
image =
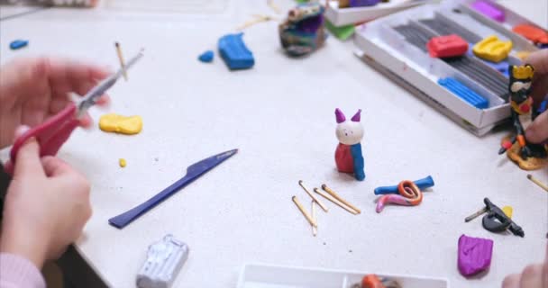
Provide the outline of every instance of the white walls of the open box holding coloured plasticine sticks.
<path id="1" fill-rule="evenodd" d="M 523 38 L 510 37 L 511 32 L 501 29 L 494 23 L 479 22 L 479 15 L 452 14 L 454 9 L 463 9 L 465 3 L 466 1 L 451 1 L 443 4 L 425 4 L 367 23 L 357 32 L 357 55 L 398 83 L 413 87 L 414 89 L 410 90 L 420 94 L 425 102 L 431 103 L 453 121 L 480 136 L 510 116 L 509 104 L 443 61 L 430 58 L 424 51 L 409 44 L 403 36 L 390 29 L 398 24 L 431 18 L 436 12 L 441 12 L 454 18 L 452 20 L 456 23 L 466 23 L 469 30 L 481 37 L 497 34 L 501 39 L 512 39 L 514 46 L 522 50 L 536 49 Z M 511 58 L 512 62 L 518 61 L 514 57 Z M 437 80 L 446 76 L 459 79 L 489 99 L 489 108 L 477 109 L 438 85 Z"/>

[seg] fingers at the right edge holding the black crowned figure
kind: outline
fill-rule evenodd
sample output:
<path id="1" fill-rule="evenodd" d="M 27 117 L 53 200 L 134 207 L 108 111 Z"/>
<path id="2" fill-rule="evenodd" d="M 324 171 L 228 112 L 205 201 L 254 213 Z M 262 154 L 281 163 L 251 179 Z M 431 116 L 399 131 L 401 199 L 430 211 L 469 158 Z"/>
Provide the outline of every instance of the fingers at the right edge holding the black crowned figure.
<path id="1" fill-rule="evenodd" d="M 533 97 L 538 106 L 548 94 L 548 49 L 542 49 L 531 54 L 525 63 L 534 67 Z M 548 139 L 548 111 L 538 115 L 531 126 L 525 131 L 525 138 L 533 143 L 541 143 Z"/>

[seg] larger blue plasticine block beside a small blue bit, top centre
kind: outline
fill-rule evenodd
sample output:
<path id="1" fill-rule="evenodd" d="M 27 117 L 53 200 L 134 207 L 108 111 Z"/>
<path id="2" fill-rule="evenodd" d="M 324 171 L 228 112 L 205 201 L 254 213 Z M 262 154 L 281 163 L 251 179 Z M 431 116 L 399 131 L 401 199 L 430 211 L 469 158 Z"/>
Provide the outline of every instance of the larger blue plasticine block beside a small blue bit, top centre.
<path id="1" fill-rule="evenodd" d="M 248 69 L 255 64 L 253 54 L 245 47 L 242 36 L 243 33 L 227 34 L 219 39 L 219 53 L 231 70 Z"/>

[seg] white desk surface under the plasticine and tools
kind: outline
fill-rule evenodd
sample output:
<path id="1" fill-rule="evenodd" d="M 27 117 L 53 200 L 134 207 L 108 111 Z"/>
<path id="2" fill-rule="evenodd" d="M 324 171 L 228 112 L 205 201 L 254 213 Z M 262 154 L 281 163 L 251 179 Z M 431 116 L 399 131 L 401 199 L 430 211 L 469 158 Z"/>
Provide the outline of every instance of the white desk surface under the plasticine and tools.
<path id="1" fill-rule="evenodd" d="M 126 57 L 146 49 L 130 81 L 112 89 L 109 109 L 142 115 L 142 133 L 78 130 L 60 153 L 93 183 L 94 214 L 77 247 L 105 281 L 133 286 L 147 247 L 166 233 L 191 248 L 175 287 L 235 287 L 240 268 L 249 262 L 498 287 L 505 275 L 543 260 L 548 193 L 497 155 L 506 132 L 479 139 L 461 129 L 355 58 L 352 42 L 331 37 L 314 55 L 292 59 L 280 51 L 277 23 L 262 23 L 244 36 L 256 58 L 251 70 L 230 72 L 217 56 L 213 64 L 196 60 L 206 49 L 216 51 L 219 36 L 250 14 L 270 14 L 263 2 L 233 0 L 222 14 L 199 16 L 50 9 L 1 23 L 3 63 L 47 54 L 117 67 L 114 41 L 122 43 Z M 547 4 L 528 3 L 524 6 L 535 8 L 516 10 L 547 23 Z M 19 38 L 30 40 L 30 46 L 9 50 L 8 43 Z M 335 171 L 335 107 L 347 116 L 363 109 L 365 182 Z M 96 119 L 102 113 L 92 109 Z M 187 166 L 231 148 L 240 153 L 141 219 L 122 230 L 108 225 L 110 217 L 184 175 Z M 127 159 L 127 167 L 118 166 L 119 157 Z M 534 172 L 543 182 L 547 174 Z M 421 205 L 375 212 L 374 187 L 425 175 L 433 175 L 436 185 Z M 309 206 L 299 179 L 311 188 L 329 184 L 361 207 L 361 215 L 329 204 L 329 213 L 319 213 L 318 236 L 312 237 L 291 202 L 297 194 Z M 489 233 L 480 220 L 464 223 L 486 196 L 514 207 L 525 238 Z M 494 239 L 489 274 L 472 280 L 459 275 L 462 233 Z"/>

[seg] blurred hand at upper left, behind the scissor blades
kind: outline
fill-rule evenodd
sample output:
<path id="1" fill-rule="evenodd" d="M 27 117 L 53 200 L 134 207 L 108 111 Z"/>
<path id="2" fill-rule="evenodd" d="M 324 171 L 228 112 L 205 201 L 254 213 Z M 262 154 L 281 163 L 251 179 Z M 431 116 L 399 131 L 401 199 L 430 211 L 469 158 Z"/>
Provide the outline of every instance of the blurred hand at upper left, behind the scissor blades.
<path id="1" fill-rule="evenodd" d="M 68 93 L 84 95 L 108 75 L 105 68 L 60 58 L 23 58 L 0 68 L 0 148 L 13 144 L 17 127 L 40 124 L 67 106 Z M 82 126 L 90 124 L 84 117 Z"/>

